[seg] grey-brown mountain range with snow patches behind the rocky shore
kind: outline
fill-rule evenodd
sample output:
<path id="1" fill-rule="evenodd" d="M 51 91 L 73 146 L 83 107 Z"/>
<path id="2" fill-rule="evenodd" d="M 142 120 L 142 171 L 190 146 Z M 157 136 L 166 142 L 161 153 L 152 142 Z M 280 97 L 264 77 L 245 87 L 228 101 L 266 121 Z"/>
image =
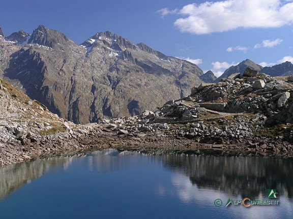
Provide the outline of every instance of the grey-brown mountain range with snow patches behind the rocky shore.
<path id="1" fill-rule="evenodd" d="M 0 28 L 0 77 L 58 116 L 75 123 L 134 116 L 171 99 L 188 96 L 203 82 L 218 82 L 246 67 L 273 76 L 292 75 L 285 62 L 262 67 L 247 59 L 216 79 L 195 64 L 133 44 L 118 34 L 98 32 L 81 45 L 40 25 L 5 37 Z"/>

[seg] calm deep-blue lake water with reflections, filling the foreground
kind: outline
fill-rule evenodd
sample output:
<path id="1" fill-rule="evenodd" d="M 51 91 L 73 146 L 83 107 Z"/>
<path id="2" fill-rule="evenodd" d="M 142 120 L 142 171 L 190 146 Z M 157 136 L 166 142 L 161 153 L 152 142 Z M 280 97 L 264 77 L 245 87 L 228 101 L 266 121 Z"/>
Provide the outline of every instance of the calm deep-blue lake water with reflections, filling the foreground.
<path id="1" fill-rule="evenodd" d="M 255 157 L 105 150 L 38 159 L 0 169 L 0 218 L 293 218 L 292 173 L 292 160 Z M 225 207 L 229 198 L 278 204 Z"/>

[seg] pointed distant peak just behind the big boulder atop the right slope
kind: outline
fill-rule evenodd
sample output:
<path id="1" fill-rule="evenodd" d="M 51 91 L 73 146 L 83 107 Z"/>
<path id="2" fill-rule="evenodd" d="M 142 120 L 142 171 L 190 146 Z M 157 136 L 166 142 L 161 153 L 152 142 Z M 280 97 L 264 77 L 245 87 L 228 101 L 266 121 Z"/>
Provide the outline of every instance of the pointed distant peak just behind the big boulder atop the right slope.
<path id="1" fill-rule="evenodd" d="M 232 65 L 231 67 L 229 67 L 227 70 L 224 71 L 223 75 L 221 75 L 219 78 L 217 78 L 215 80 L 215 82 L 217 83 L 222 78 L 227 78 L 228 76 L 230 76 L 234 73 L 240 73 L 241 75 L 243 75 L 243 73 L 247 67 L 250 67 L 251 69 L 258 70 L 258 71 L 262 69 L 261 65 L 254 63 L 250 59 L 246 59 L 246 60 L 240 62 L 236 66 Z"/>

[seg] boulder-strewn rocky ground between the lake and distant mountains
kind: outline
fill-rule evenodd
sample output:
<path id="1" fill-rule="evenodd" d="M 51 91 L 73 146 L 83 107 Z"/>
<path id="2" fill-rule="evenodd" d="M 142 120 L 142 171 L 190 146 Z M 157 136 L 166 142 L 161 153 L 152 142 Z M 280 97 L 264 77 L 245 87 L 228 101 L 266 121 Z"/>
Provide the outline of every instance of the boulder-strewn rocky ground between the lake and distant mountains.
<path id="1" fill-rule="evenodd" d="M 247 70 L 155 112 L 77 125 L 2 80 L 0 166 L 107 148 L 148 154 L 293 157 L 293 78 Z"/>

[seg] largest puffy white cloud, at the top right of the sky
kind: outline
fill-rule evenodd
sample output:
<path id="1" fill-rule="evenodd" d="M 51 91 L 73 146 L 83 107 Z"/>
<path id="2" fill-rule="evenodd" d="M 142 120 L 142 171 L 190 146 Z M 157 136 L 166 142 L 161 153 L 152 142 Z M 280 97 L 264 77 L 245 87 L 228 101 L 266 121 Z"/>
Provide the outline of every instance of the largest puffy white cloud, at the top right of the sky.
<path id="1" fill-rule="evenodd" d="M 281 27 L 293 23 L 293 3 L 280 0 L 226 0 L 189 4 L 181 10 L 161 9 L 162 16 L 181 14 L 174 22 L 182 32 L 207 34 L 237 28 Z"/>

